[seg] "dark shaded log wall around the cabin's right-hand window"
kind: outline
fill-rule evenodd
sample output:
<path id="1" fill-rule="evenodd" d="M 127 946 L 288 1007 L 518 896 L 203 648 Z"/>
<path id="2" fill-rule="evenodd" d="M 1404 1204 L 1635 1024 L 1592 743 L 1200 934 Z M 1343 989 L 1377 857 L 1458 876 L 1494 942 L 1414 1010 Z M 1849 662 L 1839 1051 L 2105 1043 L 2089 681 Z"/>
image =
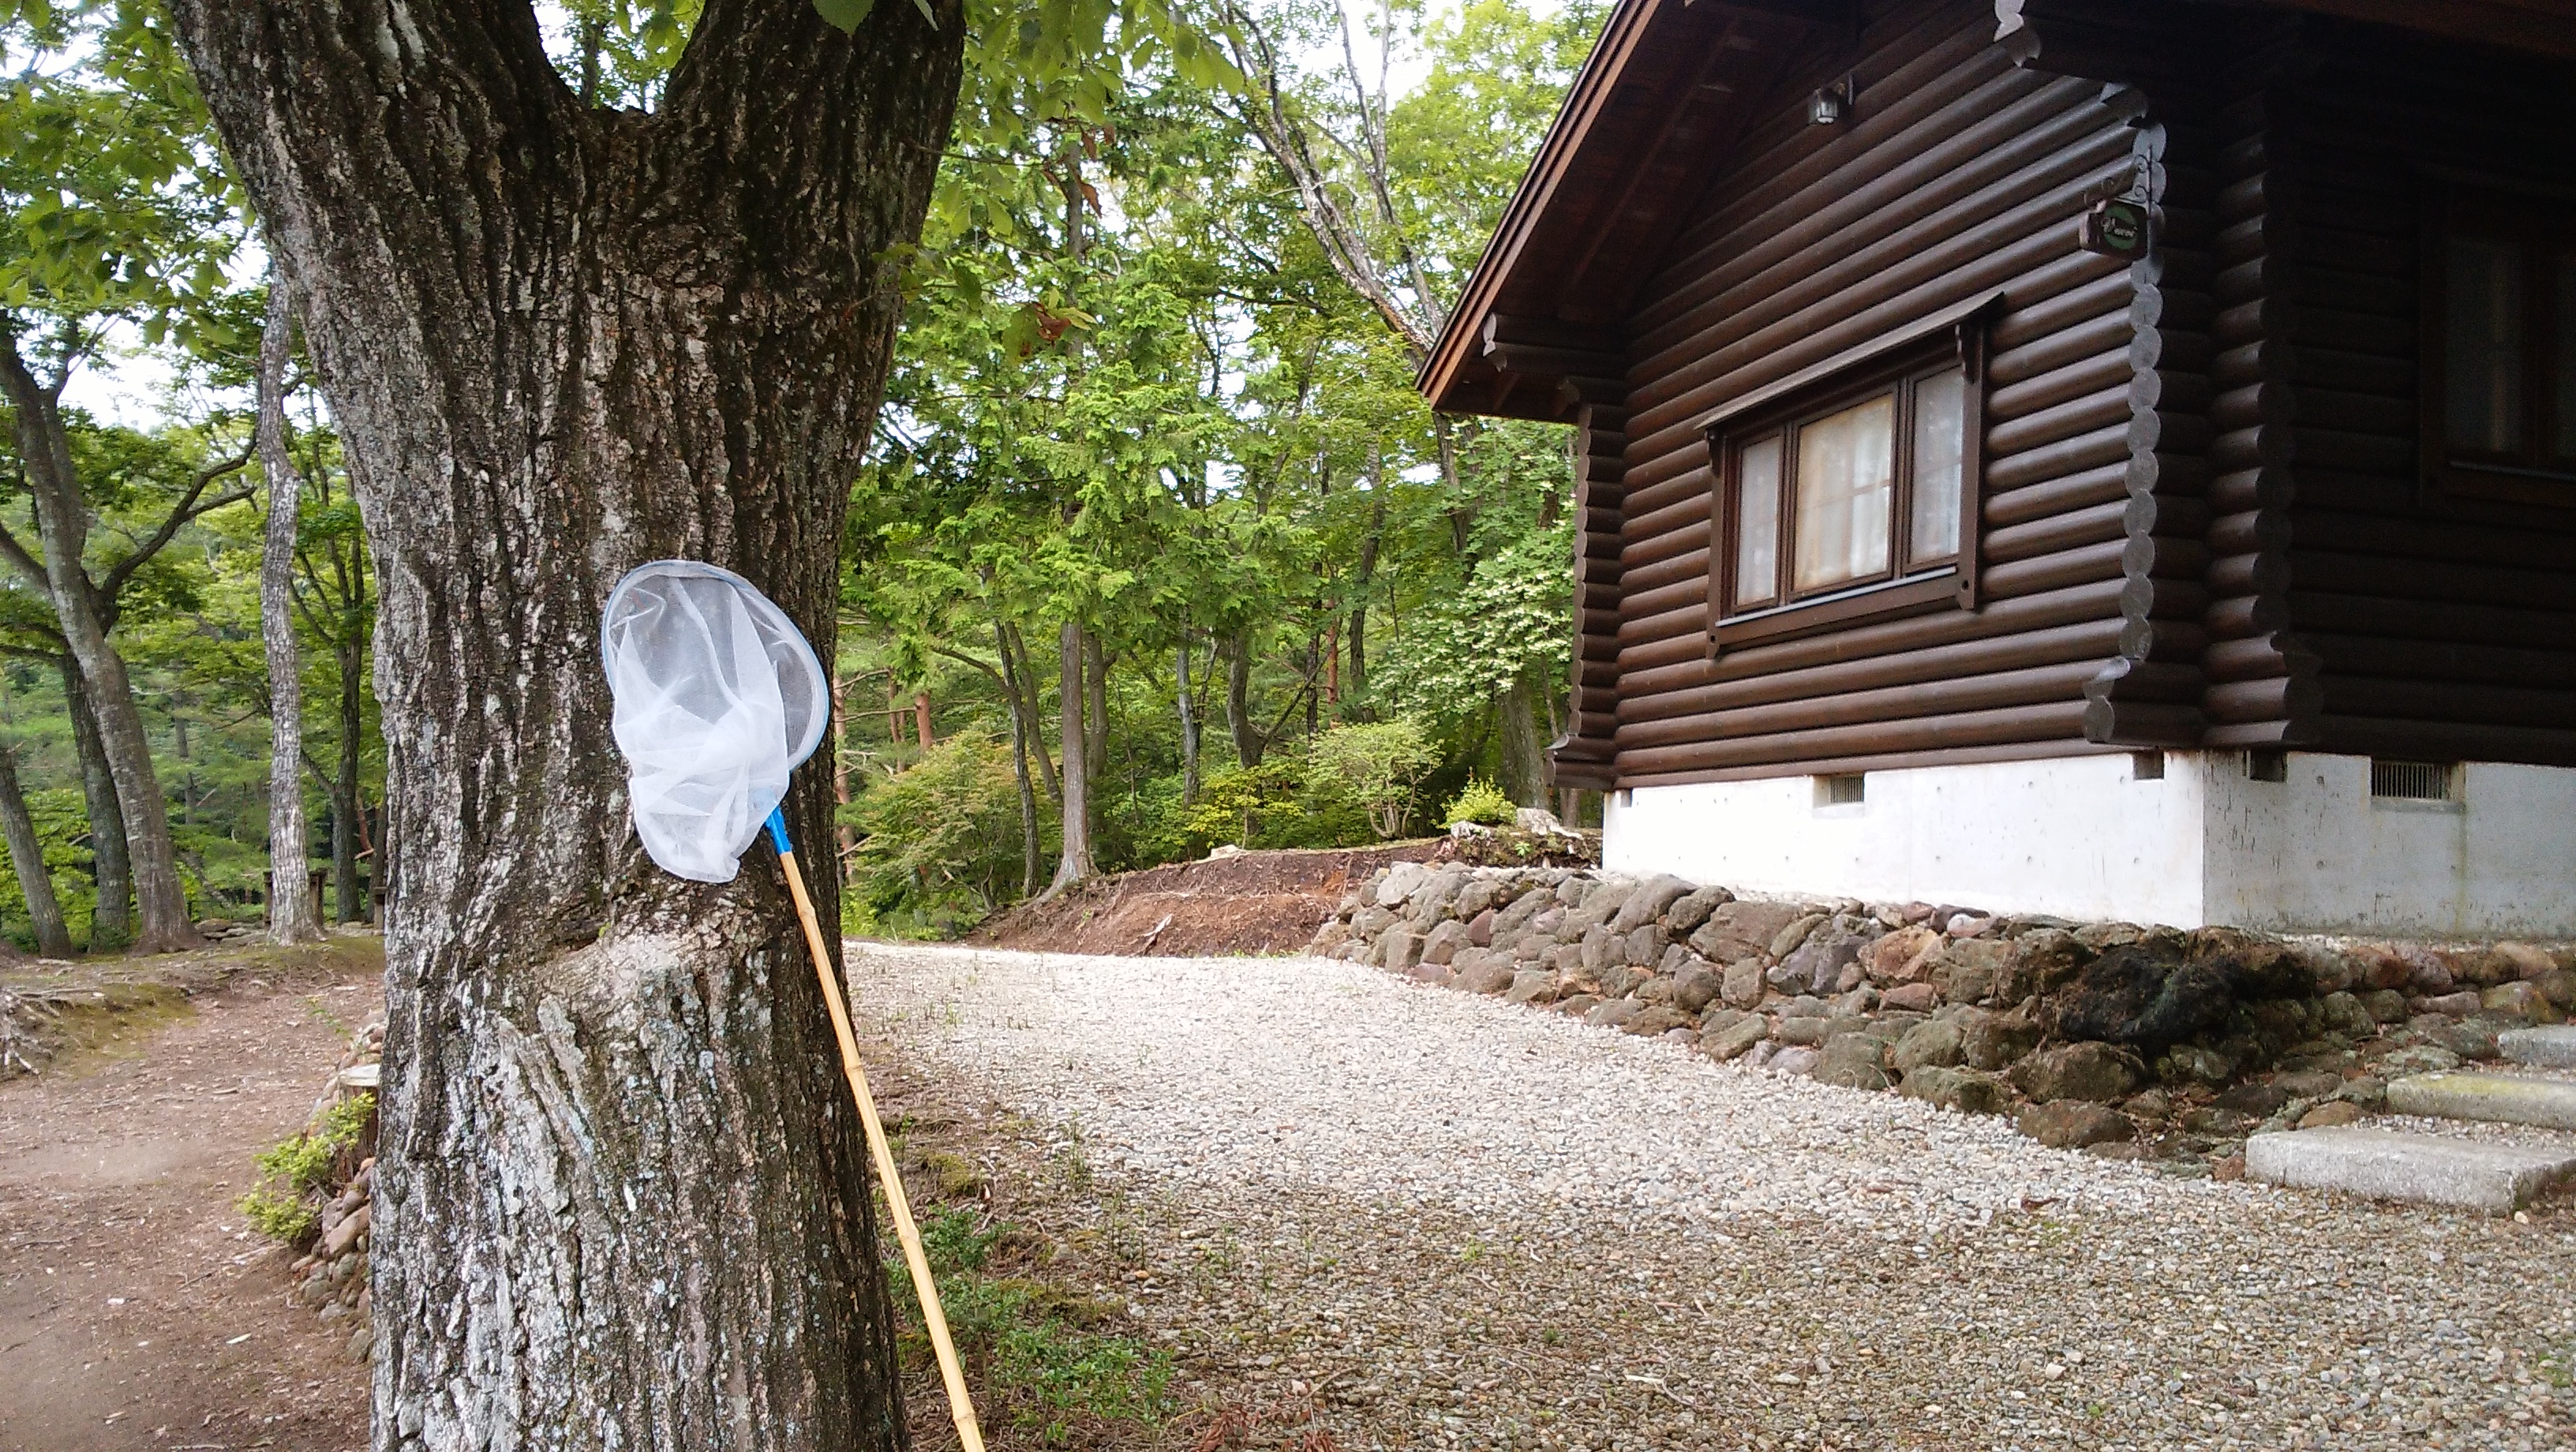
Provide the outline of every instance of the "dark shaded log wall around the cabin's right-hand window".
<path id="1" fill-rule="evenodd" d="M 2576 507 L 2445 494 L 2416 438 L 2419 278 L 2442 188 L 2576 178 L 2576 64 L 2306 21 L 2275 90 L 2298 237 L 2275 427 L 2282 605 L 2326 752 L 2576 765 Z"/>

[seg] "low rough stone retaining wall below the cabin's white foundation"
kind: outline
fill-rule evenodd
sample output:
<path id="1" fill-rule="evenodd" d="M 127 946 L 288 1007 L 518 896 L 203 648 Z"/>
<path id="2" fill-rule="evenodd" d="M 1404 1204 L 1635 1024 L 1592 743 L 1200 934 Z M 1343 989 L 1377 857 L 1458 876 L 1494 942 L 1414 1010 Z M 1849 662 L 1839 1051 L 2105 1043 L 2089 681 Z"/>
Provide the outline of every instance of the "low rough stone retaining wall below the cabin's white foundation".
<path id="1" fill-rule="evenodd" d="M 1309 950 L 2218 1174 L 2241 1171 L 2246 1133 L 2349 1122 L 2391 1076 L 2494 1058 L 2496 1032 L 2576 1009 L 2566 945 L 2074 924 L 1556 868 L 1399 862 Z"/>

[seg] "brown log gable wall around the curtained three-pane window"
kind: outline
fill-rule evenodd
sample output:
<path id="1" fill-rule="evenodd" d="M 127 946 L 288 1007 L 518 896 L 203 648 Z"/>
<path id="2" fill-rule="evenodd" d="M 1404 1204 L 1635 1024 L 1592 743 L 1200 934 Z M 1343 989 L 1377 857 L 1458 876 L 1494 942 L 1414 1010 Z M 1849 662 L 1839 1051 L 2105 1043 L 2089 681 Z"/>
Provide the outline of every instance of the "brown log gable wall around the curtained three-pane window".
<path id="1" fill-rule="evenodd" d="M 1816 77 L 1785 80 L 1726 144 L 1698 221 L 1641 291 L 1618 530 L 1620 785 L 2105 749 L 2087 739 L 2087 682 L 2115 667 L 2130 736 L 2197 718 L 2205 399 L 2197 376 L 2159 371 L 2174 306 L 2161 273 L 2141 288 L 2130 265 L 2074 245 L 2089 191 L 2138 162 L 2164 185 L 2146 98 L 2050 75 L 2045 57 L 2022 64 L 1994 33 L 1981 0 L 1875 15 L 1850 64 L 1850 126 L 1808 126 Z M 1996 288 L 1984 608 L 1710 662 L 1700 420 Z M 2205 314 L 2205 299 L 2179 309 Z"/>

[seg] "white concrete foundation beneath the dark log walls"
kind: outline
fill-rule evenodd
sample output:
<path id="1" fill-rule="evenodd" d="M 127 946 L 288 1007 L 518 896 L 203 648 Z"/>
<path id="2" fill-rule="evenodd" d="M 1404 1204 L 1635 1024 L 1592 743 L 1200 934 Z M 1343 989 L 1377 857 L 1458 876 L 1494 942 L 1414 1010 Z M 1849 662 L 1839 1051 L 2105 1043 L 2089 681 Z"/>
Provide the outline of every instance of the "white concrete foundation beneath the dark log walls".
<path id="1" fill-rule="evenodd" d="M 2154 754 L 2148 754 L 2154 759 Z M 2403 937 L 2576 937 L 2576 770 L 2468 762 L 2375 798 L 2367 757 L 2058 757 L 1610 793 L 1605 865 L 1775 893 L 2071 919 Z"/>

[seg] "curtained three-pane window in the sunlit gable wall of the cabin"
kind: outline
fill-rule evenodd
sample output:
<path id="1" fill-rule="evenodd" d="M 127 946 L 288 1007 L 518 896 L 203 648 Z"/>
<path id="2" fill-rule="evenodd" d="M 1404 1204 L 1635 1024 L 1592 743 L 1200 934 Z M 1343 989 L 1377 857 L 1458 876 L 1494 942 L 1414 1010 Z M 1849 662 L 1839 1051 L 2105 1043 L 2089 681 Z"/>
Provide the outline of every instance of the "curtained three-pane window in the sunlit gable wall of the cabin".
<path id="1" fill-rule="evenodd" d="M 1978 386 L 1968 327 L 1710 425 L 1718 646 L 1965 602 Z"/>

